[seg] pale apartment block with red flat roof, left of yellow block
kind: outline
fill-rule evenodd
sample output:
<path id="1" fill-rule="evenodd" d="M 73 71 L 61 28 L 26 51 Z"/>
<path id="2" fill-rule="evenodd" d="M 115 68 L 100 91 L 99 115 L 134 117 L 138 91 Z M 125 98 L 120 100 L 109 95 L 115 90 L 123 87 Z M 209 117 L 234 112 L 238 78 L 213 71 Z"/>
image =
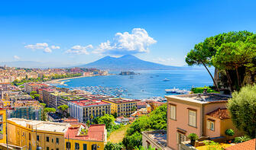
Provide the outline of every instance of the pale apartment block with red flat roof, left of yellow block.
<path id="1" fill-rule="evenodd" d="M 91 120 L 91 116 L 103 116 L 105 113 L 111 114 L 111 104 L 99 100 L 70 101 L 68 103 L 70 116 L 86 123 Z"/>

